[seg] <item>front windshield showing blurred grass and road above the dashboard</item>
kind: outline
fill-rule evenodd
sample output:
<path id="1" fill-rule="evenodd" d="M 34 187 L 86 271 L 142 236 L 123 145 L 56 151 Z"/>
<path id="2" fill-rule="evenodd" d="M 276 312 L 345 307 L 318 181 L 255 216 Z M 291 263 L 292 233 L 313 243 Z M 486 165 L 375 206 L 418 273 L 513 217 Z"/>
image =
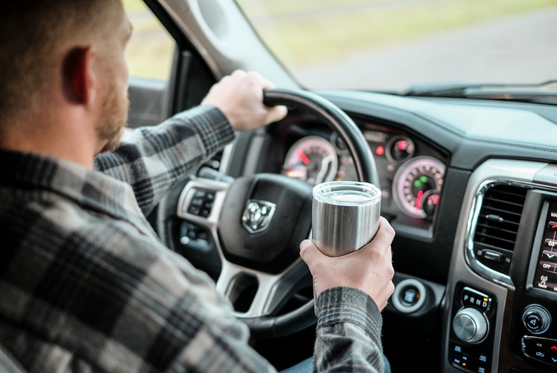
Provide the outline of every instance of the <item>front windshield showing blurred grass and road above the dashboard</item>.
<path id="1" fill-rule="evenodd" d="M 557 77 L 557 0 L 237 0 L 306 88 Z"/>

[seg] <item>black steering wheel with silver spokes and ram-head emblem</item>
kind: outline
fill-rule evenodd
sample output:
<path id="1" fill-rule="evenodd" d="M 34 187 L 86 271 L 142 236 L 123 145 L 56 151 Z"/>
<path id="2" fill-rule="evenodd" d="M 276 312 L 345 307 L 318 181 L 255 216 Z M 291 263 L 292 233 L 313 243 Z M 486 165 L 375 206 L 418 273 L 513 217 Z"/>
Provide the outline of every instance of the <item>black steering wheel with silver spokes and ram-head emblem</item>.
<path id="1" fill-rule="evenodd" d="M 368 143 L 359 127 L 344 111 L 319 95 L 304 90 L 273 88 L 265 90 L 263 97 L 267 106 L 285 105 L 290 109 L 299 109 L 312 113 L 317 120 L 327 124 L 338 133 L 347 146 L 354 160 L 358 180 L 379 185 L 377 167 Z M 274 191 L 261 191 L 262 184 L 272 185 Z M 315 324 L 313 299 L 284 314 L 273 314 L 273 310 L 276 311 L 281 305 L 281 294 L 284 297 L 284 294 L 295 289 L 297 281 L 301 281 L 304 276 L 310 276 L 298 251 L 301 239 L 308 238 L 311 232 L 312 189 L 313 186 L 307 182 L 284 175 L 256 174 L 239 177 L 232 183 L 196 178 L 188 182 L 180 193 L 178 217 L 206 227 L 214 237 L 214 244 L 222 263 L 217 279 L 217 291 L 232 301 L 235 292 L 233 288 L 238 278 L 253 278 L 254 282 L 258 283 L 259 287 L 249 309 L 235 311 L 236 317 L 249 326 L 253 337 L 281 337 Z M 213 212 L 209 216 L 196 216 L 188 212 L 188 206 L 198 190 L 209 190 L 215 195 Z M 280 201 L 275 200 L 278 198 L 277 190 L 288 194 Z M 268 233 L 248 232 L 243 229 L 245 226 L 242 228 L 242 212 L 245 214 L 246 205 L 253 200 L 273 200 L 277 203 L 276 213 L 281 218 L 287 214 L 291 215 L 284 219 L 273 219 Z M 290 205 L 283 208 L 284 203 Z M 162 205 L 166 205 L 166 202 L 159 205 L 159 212 L 164 211 L 164 214 L 168 214 L 168 206 Z M 172 246 L 173 240 L 168 237 L 168 230 L 163 226 L 166 219 L 159 217 L 158 220 L 159 231 L 165 232 L 162 235 L 163 240 L 168 246 Z M 282 236 L 280 233 L 273 236 L 274 230 L 282 230 L 283 225 L 288 225 L 288 221 L 295 232 L 285 231 Z M 258 236 L 263 238 L 257 241 Z M 291 237 L 291 241 L 282 242 L 285 240 L 281 237 Z M 269 244 L 269 241 L 272 244 Z M 274 246 L 281 245 L 284 248 L 278 248 L 277 253 L 260 254 L 262 251 L 273 251 Z M 253 253 L 258 254 L 254 257 Z M 266 256 L 264 262 L 260 262 L 260 255 Z M 276 262 L 281 263 L 277 264 L 280 267 L 276 267 Z"/>

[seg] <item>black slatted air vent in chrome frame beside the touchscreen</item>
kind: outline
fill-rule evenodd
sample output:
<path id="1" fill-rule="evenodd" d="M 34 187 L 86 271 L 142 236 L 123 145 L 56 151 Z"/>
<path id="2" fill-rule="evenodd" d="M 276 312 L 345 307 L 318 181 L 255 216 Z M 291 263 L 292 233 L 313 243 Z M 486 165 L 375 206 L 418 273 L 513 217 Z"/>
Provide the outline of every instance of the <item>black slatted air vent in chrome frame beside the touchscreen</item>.
<path id="1" fill-rule="evenodd" d="M 476 258 L 485 266 L 508 275 L 515 248 L 526 188 L 495 185 L 483 197 L 473 238 Z"/>

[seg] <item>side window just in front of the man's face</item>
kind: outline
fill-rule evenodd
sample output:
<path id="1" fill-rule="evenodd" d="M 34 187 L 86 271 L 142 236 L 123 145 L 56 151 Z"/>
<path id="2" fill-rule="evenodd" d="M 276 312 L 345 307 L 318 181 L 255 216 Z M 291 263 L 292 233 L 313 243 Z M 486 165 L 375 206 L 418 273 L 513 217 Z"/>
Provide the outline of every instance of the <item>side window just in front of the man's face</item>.
<path id="1" fill-rule="evenodd" d="M 168 118 L 168 87 L 175 41 L 143 0 L 123 0 L 133 33 L 126 47 L 130 69 L 128 125 L 157 125 Z"/>

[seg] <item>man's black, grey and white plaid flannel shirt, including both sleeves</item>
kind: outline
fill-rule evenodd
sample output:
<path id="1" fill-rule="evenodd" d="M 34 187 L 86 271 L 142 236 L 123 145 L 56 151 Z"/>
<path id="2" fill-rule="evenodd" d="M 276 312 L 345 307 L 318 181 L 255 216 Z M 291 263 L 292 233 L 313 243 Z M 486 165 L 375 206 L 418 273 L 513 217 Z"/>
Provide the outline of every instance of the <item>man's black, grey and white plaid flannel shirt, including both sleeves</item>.
<path id="1" fill-rule="evenodd" d="M 0 343 L 26 370 L 274 371 L 212 280 L 145 218 L 233 138 L 218 109 L 200 106 L 136 130 L 96 170 L 0 150 Z M 315 368 L 380 370 L 375 303 L 331 289 L 319 305 Z"/>

